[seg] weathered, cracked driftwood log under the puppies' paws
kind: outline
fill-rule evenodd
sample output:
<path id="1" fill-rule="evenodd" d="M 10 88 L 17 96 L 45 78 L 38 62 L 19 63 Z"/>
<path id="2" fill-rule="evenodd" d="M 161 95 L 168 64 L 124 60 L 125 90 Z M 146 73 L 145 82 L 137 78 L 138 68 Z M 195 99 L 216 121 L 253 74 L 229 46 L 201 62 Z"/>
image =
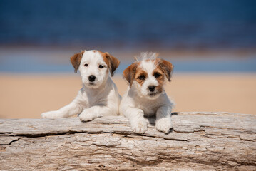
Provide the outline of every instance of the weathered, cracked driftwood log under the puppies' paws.
<path id="1" fill-rule="evenodd" d="M 256 170 L 256 115 L 173 113 L 169 134 L 122 116 L 1 119 L 0 170 Z"/>

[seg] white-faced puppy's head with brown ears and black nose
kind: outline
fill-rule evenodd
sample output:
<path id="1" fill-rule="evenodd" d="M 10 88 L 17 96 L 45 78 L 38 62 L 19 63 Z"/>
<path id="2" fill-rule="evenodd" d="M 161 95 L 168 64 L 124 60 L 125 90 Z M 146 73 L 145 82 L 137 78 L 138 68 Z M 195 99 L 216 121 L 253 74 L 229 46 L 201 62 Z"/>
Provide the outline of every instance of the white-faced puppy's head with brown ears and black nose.
<path id="1" fill-rule="evenodd" d="M 108 71 L 113 76 L 120 61 L 108 52 L 81 51 L 71 56 L 75 73 L 79 70 L 83 84 L 88 88 L 98 88 L 108 78 Z"/>

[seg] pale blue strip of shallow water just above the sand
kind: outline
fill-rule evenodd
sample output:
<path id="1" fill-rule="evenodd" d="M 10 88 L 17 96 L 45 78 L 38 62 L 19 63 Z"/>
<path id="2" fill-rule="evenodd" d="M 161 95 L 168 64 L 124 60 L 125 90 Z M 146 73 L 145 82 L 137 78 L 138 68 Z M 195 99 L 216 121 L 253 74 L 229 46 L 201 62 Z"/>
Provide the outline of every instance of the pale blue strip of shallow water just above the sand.
<path id="1" fill-rule="evenodd" d="M 66 62 L 44 61 L 46 53 L 30 55 L 29 53 L 9 53 L 0 58 L 0 72 L 4 73 L 73 73 L 73 66 Z M 208 58 L 196 60 L 178 60 L 168 58 L 173 63 L 175 73 L 255 73 L 256 54 L 247 58 Z M 132 62 L 122 62 L 116 73 L 121 74 Z"/>

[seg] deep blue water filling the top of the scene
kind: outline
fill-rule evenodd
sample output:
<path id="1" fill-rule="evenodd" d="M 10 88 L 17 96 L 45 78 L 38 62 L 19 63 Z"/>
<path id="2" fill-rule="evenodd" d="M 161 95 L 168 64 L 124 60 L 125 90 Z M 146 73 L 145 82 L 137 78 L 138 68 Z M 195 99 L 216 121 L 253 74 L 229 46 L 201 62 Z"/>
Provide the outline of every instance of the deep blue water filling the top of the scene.
<path id="1" fill-rule="evenodd" d="M 0 44 L 255 48 L 255 0 L 0 0 Z"/>

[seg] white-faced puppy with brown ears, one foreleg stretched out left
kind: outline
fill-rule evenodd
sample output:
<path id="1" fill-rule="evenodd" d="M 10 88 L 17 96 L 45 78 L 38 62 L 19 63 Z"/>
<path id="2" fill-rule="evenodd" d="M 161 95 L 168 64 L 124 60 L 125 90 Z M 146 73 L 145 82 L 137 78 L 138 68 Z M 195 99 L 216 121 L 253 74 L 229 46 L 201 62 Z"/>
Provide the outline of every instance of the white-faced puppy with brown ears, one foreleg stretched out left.
<path id="1" fill-rule="evenodd" d="M 75 73 L 79 70 L 83 88 L 76 98 L 63 108 L 41 114 L 41 118 L 66 118 L 79 115 L 81 121 L 90 121 L 105 115 L 118 115 L 121 96 L 108 71 L 113 76 L 120 61 L 109 53 L 81 51 L 71 57 Z"/>

